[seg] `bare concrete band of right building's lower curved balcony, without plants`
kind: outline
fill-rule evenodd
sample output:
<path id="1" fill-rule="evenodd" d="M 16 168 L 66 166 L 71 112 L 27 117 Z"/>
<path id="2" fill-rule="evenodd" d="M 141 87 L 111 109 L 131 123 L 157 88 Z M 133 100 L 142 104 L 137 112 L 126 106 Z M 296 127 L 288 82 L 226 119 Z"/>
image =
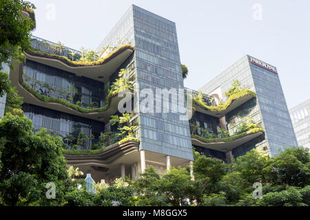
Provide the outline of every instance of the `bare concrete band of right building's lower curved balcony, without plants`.
<path id="1" fill-rule="evenodd" d="M 227 153 L 232 149 L 236 148 L 237 146 L 245 144 L 246 142 L 249 142 L 250 140 L 253 140 L 255 137 L 258 137 L 262 134 L 263 134 L 262 131 L 258 131 L 255 133 L 247 133 L 242 137 L 237 137 L 236 140 L 233 140 L 231 142 L 222 141 L 222 142 L 209 142 L 209 143 L 203 142 L 203 140 L 200 140 L 197 137 L 192 137 L 192 144 Z"/>

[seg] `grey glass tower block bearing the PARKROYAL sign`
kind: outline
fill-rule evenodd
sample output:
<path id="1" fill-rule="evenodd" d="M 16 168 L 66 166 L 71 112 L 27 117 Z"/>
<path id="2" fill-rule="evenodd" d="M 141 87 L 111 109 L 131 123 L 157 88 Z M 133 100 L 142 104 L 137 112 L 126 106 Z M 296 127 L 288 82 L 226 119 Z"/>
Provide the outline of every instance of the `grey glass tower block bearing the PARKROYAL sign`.
<path id="1" fill-rule="evenodd" d="M 276 67 L 273 68 L 276 69 Z M 220 91 L 220 96 L 225 101 L 223 94 L 231 88 L 233 80 L 239 80 L 242 87 L 256 92 L 257 98 L 249 100 L 226 115 L 229 133 L 234 133 L 240 122 L 249 118 L 265 130 L 264 140 L 255 144 L 253 142 L 249 147 L 241 146 L 238 153 L 236 153 L 237 150 L 235 153 L 242 155 L 246 153 L 247 148 L 256 147 L 265 149 L 273 156 L 278 153 L 279 148 L 296 146 L 296 136 L 278 74 L 252 63 L 251 56 L 247 55 L 216 76 L 201 90 L 205 94 Z M 242 148 L 244 151 L 241 150 Z"/>

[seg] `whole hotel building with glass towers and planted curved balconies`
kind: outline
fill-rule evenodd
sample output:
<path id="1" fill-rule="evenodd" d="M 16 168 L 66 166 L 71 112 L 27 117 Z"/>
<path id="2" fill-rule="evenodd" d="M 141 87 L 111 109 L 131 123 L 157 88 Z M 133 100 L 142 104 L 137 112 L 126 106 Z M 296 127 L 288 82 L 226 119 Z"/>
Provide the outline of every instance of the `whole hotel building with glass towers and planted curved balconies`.
<path id="1" fill-rule="evenodd" d="M 32 47 L 24 53 L 25 63 L 14 62 L 10 70 L 23 112 L 35 129 L 61 135 L 68 164 L 95 181 L 135 179 L 150 165 L 159 173 L 189 166 L 193 146 L 230 163 L 251 148 L 273 156 L 279 147 L 297 144 L 276 67 L 245 56 L 200 91 L 185 89 L 175 23 L 136 5 L 100 43 L 92 62 L 81 62 L 85 52 L 37 37 Z M 233 80 L 240 87 L 224 96 Z M 122 88 L 134 95 L 130 119 L 120 125 L 131 129 L 123 134 L 119 123 L 110 121 L 123 116 Z M 164 94 L 148 106 L 158 107 L 166 91 L 169 103 L 161 111 L 145 111 L 145 91 L 156 89 Z M 174 89 L 182 95 L 174 96 Z M 186 106 L 188 111 L 173 111 Z"/>

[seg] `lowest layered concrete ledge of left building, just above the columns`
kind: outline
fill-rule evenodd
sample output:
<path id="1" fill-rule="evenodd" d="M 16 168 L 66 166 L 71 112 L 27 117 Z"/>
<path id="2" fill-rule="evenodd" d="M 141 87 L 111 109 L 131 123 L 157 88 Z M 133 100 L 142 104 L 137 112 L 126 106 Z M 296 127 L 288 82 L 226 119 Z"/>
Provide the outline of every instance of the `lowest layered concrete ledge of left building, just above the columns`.
<path id="1" fill-rule="evenodd" d="M 63 153 L 65 159 L 67 159 L 69 165 L 83 166 L 83 165 L 94 165 L 94 166 L 108 166 L 112 164 L 116 159 L 128 155 L 130 153 L 138 153 L 138 142 L 127 141 L 123 144 L 112 144 L 103 151 L 91 154 L 91 155 L 71 155 Z"/>

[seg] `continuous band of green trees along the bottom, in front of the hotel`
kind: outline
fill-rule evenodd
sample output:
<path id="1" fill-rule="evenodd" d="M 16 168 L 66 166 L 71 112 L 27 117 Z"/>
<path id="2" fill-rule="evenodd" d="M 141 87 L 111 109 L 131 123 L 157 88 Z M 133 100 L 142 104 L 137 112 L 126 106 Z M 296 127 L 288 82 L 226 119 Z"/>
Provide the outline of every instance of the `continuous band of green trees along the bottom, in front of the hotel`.
<path id="1" fill-rule="evenodd" d="M 63 141 L 31 120 L 7 113 L 0 121 L 0 203 L 6 206 L 309 206 L 308 148 L 285 148 L 276 157 L 252 150 L 223 164 L 194 153 L 194 180 L 189 168 L 159 175 L 150 166 L 136 180 L 116 179 L 87 192 L 79 170 L 65 166 Z M 46 199 L 45 184 L 56 185 L 56 199 Z M 254 199 L 255 182 L 262 199 Z M 77 188 L 81 184 L 82 188 Z"/>

